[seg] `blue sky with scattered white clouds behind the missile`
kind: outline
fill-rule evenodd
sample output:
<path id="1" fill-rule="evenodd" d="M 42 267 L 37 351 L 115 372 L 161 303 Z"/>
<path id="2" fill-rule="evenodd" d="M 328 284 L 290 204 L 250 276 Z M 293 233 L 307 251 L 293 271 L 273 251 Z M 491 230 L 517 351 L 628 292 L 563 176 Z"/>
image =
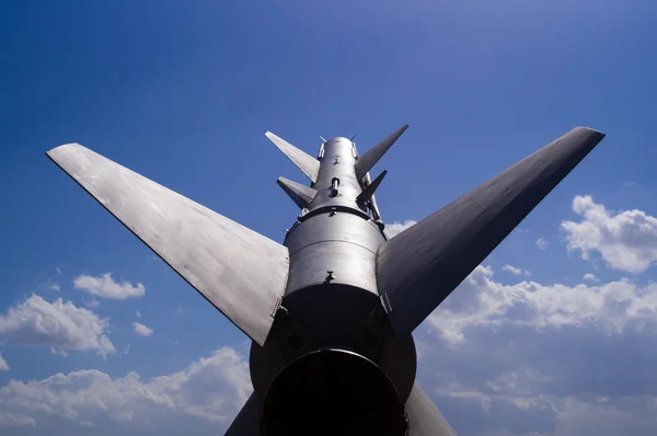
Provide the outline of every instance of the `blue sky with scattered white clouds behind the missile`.
<path id="1" fill-rule="evenodd" d="M 418 329 L 453 427 L 655 434 L 657 5 L 233 3 L 0 7 L 1 432 L 220 431 L 249 393 L 246 337 L 46 150 L 80 142 L 281 241 L 298 210 L 275 181 L 303 175 L 266 130 L 362 151 L 408 123 L 377 167 L 389 223 L 577 125 L 608 135 Z"/>

